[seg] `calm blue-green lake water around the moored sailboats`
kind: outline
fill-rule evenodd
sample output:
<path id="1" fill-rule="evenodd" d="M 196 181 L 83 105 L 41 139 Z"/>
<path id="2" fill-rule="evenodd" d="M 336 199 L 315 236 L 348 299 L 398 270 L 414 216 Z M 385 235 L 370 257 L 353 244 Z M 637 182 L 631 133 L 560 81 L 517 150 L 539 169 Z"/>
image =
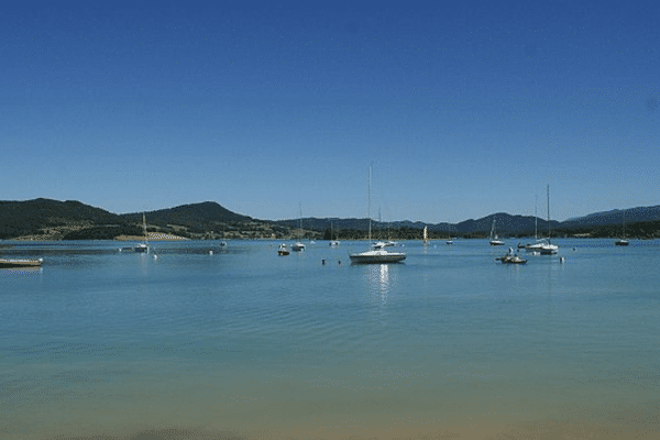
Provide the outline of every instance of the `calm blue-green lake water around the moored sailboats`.
<path id="1" fill-rule="evenodd" d="M 557 243 L 3 242 L 0 438 L 659 438 L 660 242 Z"/>

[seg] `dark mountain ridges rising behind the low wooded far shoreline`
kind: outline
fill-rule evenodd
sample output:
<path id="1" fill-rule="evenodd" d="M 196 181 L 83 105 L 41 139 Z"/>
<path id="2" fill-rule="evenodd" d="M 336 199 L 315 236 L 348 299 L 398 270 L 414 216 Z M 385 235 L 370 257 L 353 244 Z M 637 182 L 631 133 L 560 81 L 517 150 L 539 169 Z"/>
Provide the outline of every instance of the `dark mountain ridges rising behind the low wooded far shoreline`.
<path id="1" fill-rule="evenodd" d="M 208 234 L 210 231 L 243 231 L 258 230 L 258 237 L 280 237 L 299 228 L 300 219 L 290 220 L 258 220 L 248 216 L 232 212 L 217 202 L 205 201 L 200 204 L 183 205 L 175 208 L 161 209 L 145 212 L 146 222 L 152 228 L 167 230 L 169 232 Z M 569 219 L 563 222 L 551 221 L 552 230 L 561 229 L 588 229 L 608 224 L 622 224 L 635 222 L 648 222 L 660 220 L 660 206 L 638 207 L 625 210 L 612 210 L 595 212 L 588 216 Z M 471 234 L 475 232 L 487 232 L 495 221 L 499 235 L 534 234 L 535 218 L 531 216 L 512 216 L 498 212 L 477 220 L 465 220 L 460 223 L 425 223 L 419 221 L 395 221 L 377 222 L 372 220 L 372 229 L 418 229 L 425 227 L 429 231 L 440 234 L 448 233 Z M 72 231 L 80 231 L 94 228 L 98 232 L 99 227 L 136 228 L 142 222 L 142 212 L 117 215 L 100 208 L 95 208 L 79 201 L 57 201 L 51 199 L 34 199 L 26 201 L 0 201 L 0 239 L 9 239 L 24 235 L 53 235 L 66 238 Z M 340 219 L 340 218 L 304 218 L 301 219 L 304 230 L 326 231 L 356 230 L 365 231 L 369 228 L 369 219 Z M 548 222 L 536 219 L 536 228 L 539 234 L 548 230 Z M 246 227 L 250 224 L 250 227 Z M 140 230 L 136 230 L 140 233 Z M 238 232 L 237 232 L 238 233 Z M 78 237 L 78 235 L 76 235 Z M 96 237 L 96 235 L 95 235 Z M 238 237 L 244 237 L 239 234 Z M 255 237 L 254 234 L 246 237 Z"/>

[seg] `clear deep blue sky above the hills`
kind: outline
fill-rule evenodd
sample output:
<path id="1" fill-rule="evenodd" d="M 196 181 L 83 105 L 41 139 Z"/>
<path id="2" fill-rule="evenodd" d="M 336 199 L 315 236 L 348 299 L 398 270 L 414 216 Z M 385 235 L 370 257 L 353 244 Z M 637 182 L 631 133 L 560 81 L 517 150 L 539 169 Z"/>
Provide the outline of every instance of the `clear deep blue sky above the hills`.
<path id="1" fill-rule="evenodd" d="M 2 200 L 364 217 L 372 164 L 383 221 L 660 205 L 657 1 L 15 3 Z"/>

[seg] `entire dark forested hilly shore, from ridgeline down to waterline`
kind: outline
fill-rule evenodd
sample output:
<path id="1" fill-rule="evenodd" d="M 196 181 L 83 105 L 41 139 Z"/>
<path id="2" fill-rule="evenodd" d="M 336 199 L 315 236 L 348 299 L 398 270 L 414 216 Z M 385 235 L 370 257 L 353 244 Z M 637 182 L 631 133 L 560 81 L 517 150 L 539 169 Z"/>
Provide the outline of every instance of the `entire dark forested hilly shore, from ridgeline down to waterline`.
<path id="1" fill-rule="evenodd" d="M 142 212 L 117 215 L 80 201 L 58 201 L 38 198 L 26 201 L 0 201 L 0 239 L 113 239 L 118 235 L 141 234 Z M 267 221 L 230 211 L 213 201 L 183 205 L 175 208 L 144 212 L 147 229 L 153 232 L 176 233 L 188 238 L 286 238 L 293 234 L 317 237 L 324 231 L 366 231 L 369 219 L 304 218 Z M 629 237 L 660 235 L 660 206 L 596 212 L 564 222 L 531 216 L 512 216 L 498 212 L 481 219 L 459 223 L 425 223 L 420 221 L 377 222 L 374 231 L 409 231 L 404 237 L 416 237 L 425 227 L 433 237 L 484 237 L 495 227 L 499 237 L 554 234 L 581 237 L 610 237 L 623 232 Z M 637 226 L 635 226 L 637 224 Z M 299 232 L 299 229 L 305 232 Z M 549 228 L 550 227 L 550 228 Z M 312 232 L 314 231 L 314 232 Z M 618 232 L 616 232 L 618 231 Z M 349 237 L 353 237 L 349 234 Z M 354 234 L 360 237 L 360 233 Z M 393 234 L 394 237 L 394 234 Z"/>

